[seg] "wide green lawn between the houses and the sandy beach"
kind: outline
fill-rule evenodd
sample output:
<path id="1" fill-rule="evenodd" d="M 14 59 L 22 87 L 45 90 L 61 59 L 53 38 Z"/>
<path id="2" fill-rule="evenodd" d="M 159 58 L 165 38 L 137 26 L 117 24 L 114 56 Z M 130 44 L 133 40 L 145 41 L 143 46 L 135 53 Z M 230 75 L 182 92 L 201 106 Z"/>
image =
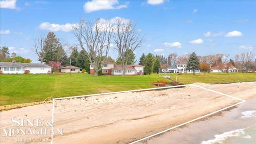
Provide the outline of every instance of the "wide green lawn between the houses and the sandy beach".
<path id="1" fill-rule="evenodd" d="M 177 74 L 171 75 L 173 79 Z M 88 74 L 0 75 L 0 105 L 43 101 L 47 97 L 68 97 L 155 87 L 150 81 L 168 81 L 157 74 L 139 76 L 92 76 Z M 190 83 L 225 83 L 256 81 L 256 73 L 179 75 L 178 81 Z"/>

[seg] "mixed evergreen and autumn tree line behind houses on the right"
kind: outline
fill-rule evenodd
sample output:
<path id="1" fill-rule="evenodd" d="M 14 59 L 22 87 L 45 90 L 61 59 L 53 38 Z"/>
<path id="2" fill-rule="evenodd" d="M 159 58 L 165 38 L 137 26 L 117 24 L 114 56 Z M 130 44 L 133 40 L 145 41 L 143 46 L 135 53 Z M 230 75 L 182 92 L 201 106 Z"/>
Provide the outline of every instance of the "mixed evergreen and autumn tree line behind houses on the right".
<path id="1" fill-rule="evenodd" d="M 163 55 L 153 55 L 144 53 L 141 55 L 139 60 L 139 65 L 145 66 L 145 71 L 147 74 L 157 73 L 159 65 L 154 67 L 156 59 L 159 59 L 161 63 L 161 69 L 167 69 L 171 65 L 186 64 L 186 69 L 196 70 L 201 69 L 204 73 L 211 72 L 212 67 L 217 67 L 219 71 L 222 69 L 229 69 L 232 67 L 243 68 L 245 71 L 249 69 L 256 70 L 256 59 L 255 54 L 252 52 L 246 52 L 241 54 L 236 54 L 234 59 L 230 58 L 229 54 L 213 54 L 213 55 L 196 55 L 196 53 L 188 53 L 185 55 L 178 56 L 175 53 L 169 54 L 167 57 Z M 147 58 L 147 59 L 146 59 Z M 146 60 L 146 62 L 144 62 Z M 158 60 L 157 62 L 158 63 Z M 228 73 L 228 71 L 227 71 Z"/>

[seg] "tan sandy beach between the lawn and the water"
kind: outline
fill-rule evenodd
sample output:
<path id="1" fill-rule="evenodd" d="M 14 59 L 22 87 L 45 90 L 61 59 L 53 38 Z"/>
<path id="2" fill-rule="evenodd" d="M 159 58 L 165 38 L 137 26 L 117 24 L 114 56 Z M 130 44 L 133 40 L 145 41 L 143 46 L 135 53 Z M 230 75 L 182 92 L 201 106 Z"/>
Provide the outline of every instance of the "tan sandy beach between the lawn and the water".
<path id="1" fill-rule="evenodd" d="M 198 85 L 242 99 L 256 97 L 256 82 Z M 236 102 L 239 101 L 195 86 L 58 100 L 54 106 L 54 129 L 63 129 L 63 135 L 54 135 L 53 142 L 129 143 Z M 1 143 L 35 138 L 3 137 L 2 129 L 11 127 L 13 116 L 47 121 L 51 119 L 51 110 L 51 104 L 44 104 L 2 111 Z M 50 135 L 37 138 L 49 140 Z"/>

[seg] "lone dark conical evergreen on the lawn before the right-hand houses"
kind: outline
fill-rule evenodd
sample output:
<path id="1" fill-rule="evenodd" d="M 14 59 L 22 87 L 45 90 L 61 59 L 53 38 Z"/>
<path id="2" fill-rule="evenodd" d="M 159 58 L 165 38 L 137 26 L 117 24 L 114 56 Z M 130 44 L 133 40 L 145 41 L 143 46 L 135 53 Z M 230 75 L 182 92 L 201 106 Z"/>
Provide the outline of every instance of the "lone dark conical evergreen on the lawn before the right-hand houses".
<path id="1" fill-rule="evenodd" d="M 200 69 L 199 60 L 195 52 L 190 54 L 186 69 L 193 70 L 193 75 L 195 75 L 195 70 Z"/>

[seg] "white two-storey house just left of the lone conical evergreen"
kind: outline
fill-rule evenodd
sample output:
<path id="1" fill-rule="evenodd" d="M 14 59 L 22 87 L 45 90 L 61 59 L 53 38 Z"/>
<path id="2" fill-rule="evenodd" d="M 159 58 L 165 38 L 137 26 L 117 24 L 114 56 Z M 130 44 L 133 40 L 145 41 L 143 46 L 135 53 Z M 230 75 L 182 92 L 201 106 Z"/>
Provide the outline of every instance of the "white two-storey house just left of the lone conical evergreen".
<path id="1" fill-rule="evenodd" d="M 186 64 L 176 64 L 171 65 L 167 68 L 167 73 L 193 73 L 193 70 L 186 69 Z M 195 73 L 200 73 L 200 69 L 196 69 Z"/>

